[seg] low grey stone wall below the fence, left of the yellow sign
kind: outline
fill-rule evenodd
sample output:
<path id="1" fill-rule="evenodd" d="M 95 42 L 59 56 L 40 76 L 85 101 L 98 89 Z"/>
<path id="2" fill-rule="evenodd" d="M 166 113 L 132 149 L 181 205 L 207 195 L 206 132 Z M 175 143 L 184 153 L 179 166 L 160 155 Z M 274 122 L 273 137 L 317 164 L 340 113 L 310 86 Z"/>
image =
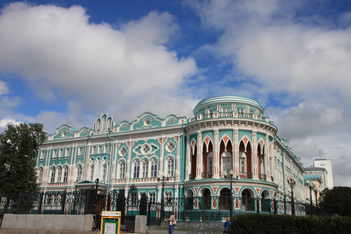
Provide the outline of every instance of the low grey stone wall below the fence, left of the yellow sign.
<path id="1" fill-rule="evenodd" d="M 4 214 L 2 231 L 9 229 L 45 229 L 91 231 L 93 215 Z"/>

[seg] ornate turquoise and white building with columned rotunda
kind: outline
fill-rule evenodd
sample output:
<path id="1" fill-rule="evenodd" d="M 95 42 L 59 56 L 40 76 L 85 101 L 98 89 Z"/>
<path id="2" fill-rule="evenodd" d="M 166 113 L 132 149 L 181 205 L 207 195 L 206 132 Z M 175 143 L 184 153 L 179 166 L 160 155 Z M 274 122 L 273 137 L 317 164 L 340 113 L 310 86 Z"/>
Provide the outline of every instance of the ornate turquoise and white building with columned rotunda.
<path id="1" fill-rule="evenodd" d="M 296 179 L 294 199 L 305 201 L 304 168 L 277 127 L 250 98 L 218 96 L 198 103 L 194 117 L 144 113 L 115 123 L 108 113 L 92 128 L 62 125 L 40 147 L 38 188 L 43 192 L 99 189 L 127 195 L 131 185 L 161 200 L 157 176 L 169 174 L 167 197 L 230 197 L 224 173 L 239 179 L 234 196 L 291 200 L 286 178 Z"/>

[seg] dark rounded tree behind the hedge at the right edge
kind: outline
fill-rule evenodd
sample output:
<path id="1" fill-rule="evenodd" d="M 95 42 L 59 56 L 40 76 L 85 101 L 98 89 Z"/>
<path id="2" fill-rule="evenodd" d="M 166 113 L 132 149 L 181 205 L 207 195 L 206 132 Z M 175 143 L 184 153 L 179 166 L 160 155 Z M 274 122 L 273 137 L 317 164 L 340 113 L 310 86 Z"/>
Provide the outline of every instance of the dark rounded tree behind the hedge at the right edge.
<path id="1" fill-rule="evenodd" d="M 351 216 L 351 188 L 344 186 L 325 188 L 319 194 L 319 207 L 331 214 Z"/>

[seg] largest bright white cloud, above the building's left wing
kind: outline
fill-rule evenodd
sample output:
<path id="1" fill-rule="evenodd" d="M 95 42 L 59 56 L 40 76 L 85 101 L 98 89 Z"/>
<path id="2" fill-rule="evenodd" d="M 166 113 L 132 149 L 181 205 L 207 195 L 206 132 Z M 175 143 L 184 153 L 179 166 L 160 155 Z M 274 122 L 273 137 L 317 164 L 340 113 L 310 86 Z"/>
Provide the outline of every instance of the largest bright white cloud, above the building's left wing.
<path id="1" fill-rule="evenodd" d="M 153 11 L 119 30 L 88 18 L 80 6 L 9 4 L 0 15 L 0 71 L 21 75 L 48 103 L 73 98 L 81 113 L 109 111 L 117 121 L 189 105 L 179 87 L 197 67 L 166 47 L 178 32 L 174 16 Z M 177 107 L 171 112 L 187 109 Z"/>

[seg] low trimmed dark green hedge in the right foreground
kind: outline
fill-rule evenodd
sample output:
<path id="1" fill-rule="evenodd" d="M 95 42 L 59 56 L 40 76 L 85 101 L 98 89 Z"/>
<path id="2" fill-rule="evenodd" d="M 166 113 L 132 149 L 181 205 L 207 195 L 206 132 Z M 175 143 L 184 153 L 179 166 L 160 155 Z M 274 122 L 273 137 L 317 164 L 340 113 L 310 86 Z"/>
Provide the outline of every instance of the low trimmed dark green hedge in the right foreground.
<path id="1" fill-rule="evenodd" d="M 244 214 L 230 220 L 229 234 L 350 234 L 350 216 Z"/>

